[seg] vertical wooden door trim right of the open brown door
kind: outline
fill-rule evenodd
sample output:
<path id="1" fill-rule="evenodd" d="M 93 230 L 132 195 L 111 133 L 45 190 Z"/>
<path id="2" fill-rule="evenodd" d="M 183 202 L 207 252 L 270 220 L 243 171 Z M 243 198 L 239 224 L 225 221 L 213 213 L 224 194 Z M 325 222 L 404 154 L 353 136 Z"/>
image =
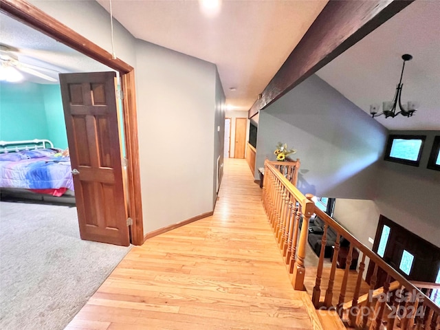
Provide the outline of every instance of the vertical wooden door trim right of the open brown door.
<path id="1" fill-rule="evenodd" d="M 129 188 L 129 217 L 133 219 L 131 226 L 131 243 L 142 245 L 144 243 L 144 222 L 142 217 L 142 196 L 140 186 L 139 138 L 137 135 L 137 108 L 135 95 L 134 70 L 121 77 L 122 90 L 124 91 L 124 132 L 125 151 L 127 159 L 127 177 Z M 129 132 L 129 134 L 127 134 Z"/>

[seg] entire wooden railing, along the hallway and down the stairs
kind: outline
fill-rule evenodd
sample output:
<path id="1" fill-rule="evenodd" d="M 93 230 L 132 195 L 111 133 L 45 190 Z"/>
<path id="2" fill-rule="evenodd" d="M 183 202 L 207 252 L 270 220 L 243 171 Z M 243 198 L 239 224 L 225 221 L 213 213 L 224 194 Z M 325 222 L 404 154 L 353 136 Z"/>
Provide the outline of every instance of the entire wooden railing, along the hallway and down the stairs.
<path id="1" fill-rule="evenodd" d="M 410 283 L 397 270 L 385 263 L 380 256 L 362 244 L 345 228 L 325 212 L 315 207 L 312 195 L 303 195 L 295 184 L 298 179 L 299 160 L 292 164 L 278 164 L 265 161 L 262 201 L 274 236 L 291 275 L 292 285 L 296 290 L 304 290 L 304 260 L 309 234 L 309 220 L 316 214 L 324 223 L 321 249 L 313 288 L 312 303 L 317 309 L 336 309 L 338 315 L 349 327 L 357 329 L 440 329 L 440 307 L 435 305 L 421 287 Z M 296 178 L 296 179 L 292 179 Z M 322 270 L 329 230 L 336 233 L 333 248 L 331 270 L 325 295 L 321 300 Z M 348 253 L 342 278 L 336 281 L 338 254 L 342 238 L 348 241 Z M 362 254 L 358 273 L 355 276 L 355 288 L 352 296 L 347 294 L 347 283 L 353 252 L 358 249 Z M 360 296 L 366 258 L 374 265 L 368 294 Z M 378 272 L 386 273 L 383 287 L 375 290 Z M 351 272 L 351 273 L 350 273 Z M 339 275 L 341 276 L 341 275 Z M 341 283 L 338 290 L 338 303 L 333 304 L 335 283 Z"/>

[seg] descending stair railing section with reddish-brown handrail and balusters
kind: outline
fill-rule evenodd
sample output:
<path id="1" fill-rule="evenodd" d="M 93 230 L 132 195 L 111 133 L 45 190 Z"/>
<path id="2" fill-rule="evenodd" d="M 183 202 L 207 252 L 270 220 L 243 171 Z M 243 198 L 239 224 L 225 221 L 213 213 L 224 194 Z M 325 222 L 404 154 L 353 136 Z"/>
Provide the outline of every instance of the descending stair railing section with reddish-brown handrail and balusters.
<path id="1" fill-rule="evenodd" d="M 314 303 L 316 308 L 336 308 L 340 318 L 350 327 L 357 329 L 378 330 L 395 329 L 397 327 L 402 330 L 440 329 L 440 307 L 435 305 L 426 294 L 417 288 L 417 283 L 410 283 L 410 281 L 404 278 L 397 270 L 383 261 L 380 256 L 367 248 L 366 245 L 358 241 L 358 239 L 339 223 L 329 217 L 328 214 L 317 207 L 314 212 L 325 222 L 316 283 L 312 295 L 312 303 Z M 325 299 L 321 301 L 320 285 L 329 228 L 331 228 L 333 232 L 336 232 L 336 243 L 334 244 L 333 259 Z M 339 290 L 338 304 L 333 306 L 333 285 L 335 283 L 336 266 L 342 237 L 350 243 L 349 252 Z M 347 278 L 350 274 L 353 249 L 355 248 L 362 253 L 362 259 L 357 274 L 354 294 L 348 298 L 346 297 Z M 360 286 L 363 281 L 362 276 L 365 270 L 366 258 L 370 259 L 370 264 L 374 265 L 374 270 L 370 280 L 369 294 L 361 303 L 359 294 Z M 375 296 L 374 289 L 377 284 L 377 274 L 379 270 L 386 273 L 386 281 L 384 286 L 380 288 L 380 290 L 382 290 L 380 294 L 376 294 Z M 350 303 L 347 304 L 347 302 Z"/>

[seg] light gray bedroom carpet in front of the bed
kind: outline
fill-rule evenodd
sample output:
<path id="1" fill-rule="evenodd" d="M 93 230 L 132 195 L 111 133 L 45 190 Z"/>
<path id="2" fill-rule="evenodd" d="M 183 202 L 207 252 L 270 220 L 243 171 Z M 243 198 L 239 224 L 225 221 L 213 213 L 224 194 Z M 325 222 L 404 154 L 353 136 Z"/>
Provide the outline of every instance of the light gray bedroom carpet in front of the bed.
<path id="1" fill-rule="evenodd" d="M 0 329 L 64 329 L 129 248 L 81 241 L 76 208 L 0 202 Z"/>

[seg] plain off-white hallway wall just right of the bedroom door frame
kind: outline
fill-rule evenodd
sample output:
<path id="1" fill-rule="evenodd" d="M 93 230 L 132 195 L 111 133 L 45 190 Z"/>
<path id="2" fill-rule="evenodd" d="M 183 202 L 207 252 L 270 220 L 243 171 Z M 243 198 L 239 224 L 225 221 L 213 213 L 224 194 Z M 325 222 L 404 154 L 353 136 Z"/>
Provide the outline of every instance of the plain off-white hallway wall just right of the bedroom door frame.
<path id="1" fill-rule="evenodd" d="M 212 211 L 216 67 L 136 41 L 144 232 Z"/>

